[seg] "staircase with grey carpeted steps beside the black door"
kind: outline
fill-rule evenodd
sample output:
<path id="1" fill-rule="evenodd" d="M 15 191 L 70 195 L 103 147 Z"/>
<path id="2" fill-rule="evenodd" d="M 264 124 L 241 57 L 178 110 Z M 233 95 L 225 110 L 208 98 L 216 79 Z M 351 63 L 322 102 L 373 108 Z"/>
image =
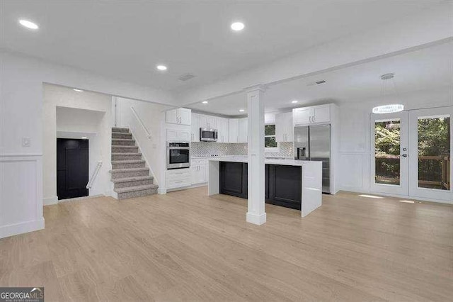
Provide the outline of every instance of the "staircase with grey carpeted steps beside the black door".
<path id="1" fill-rule="evenodd" d="M 113 191 L 119 200 L 157 193 L 149 168 L 142 160 L 142 153 L 135 145 L 128 128 L 112 128 Z"/>

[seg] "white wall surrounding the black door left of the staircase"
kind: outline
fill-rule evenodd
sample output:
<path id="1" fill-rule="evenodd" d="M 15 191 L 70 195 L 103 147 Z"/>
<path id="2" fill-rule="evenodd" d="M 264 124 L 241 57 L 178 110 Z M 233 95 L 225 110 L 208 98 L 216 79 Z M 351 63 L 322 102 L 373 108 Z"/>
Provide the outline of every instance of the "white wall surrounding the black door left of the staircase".
<path id="1" fill-rule="evenodd" d="M 90 177 L 98 160 L 103 166 L 90 195 L 110 195 L 110 108 L 111 96 L 107 94 L 44 85 L 42 175 L 45 205 L 57 202 L 57 131 L 60 134 L 85 133 L 91 138 L 92 147 L 98 154 L 91 152 Z"/>

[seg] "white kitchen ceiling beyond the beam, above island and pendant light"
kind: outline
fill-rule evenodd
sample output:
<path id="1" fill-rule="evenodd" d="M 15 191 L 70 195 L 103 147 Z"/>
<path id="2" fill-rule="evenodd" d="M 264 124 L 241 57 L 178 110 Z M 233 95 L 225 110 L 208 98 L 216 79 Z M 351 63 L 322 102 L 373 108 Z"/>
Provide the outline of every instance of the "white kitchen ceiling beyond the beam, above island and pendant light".
<path id="1" fill-rule="evenodd" d="M 395 73 L 394 83 L 398 94 L 452 86 L 453 43 L 270 86 L 265 92 L 265 111 L 281 111 L 326 101 L 341 103 L 371 99 L 381 95 L 380 76 L 389 72 Z M 307 86 L 321 79 L 326 80 L 326 84 Z M 395 94 L 393 83 L 389 84 L 387 93 Z M 298 103 L 292 104 L 292 100 Z M 239 108 L 247 108 L 247 99 L 245 93 L 234 94 L 210 100 L 209 104 L 193 104 L 189 108 L 226 116 L 243 115 Z"/>

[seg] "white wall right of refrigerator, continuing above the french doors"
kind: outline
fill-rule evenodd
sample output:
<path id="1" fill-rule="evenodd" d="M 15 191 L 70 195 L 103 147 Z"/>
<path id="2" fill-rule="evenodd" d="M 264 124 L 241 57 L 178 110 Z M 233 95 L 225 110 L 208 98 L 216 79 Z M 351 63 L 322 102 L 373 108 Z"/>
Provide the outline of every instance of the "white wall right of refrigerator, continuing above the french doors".
<path id="1" fill-rule="evenodd" d="M 374 106 L 403 104 L 405 110 L 453 106 L 453 88 L 413 91 L 398 96 L 366 99 L 340 104 L 340 190 L 366 192 L 370 190 L 371 122 Z"/>

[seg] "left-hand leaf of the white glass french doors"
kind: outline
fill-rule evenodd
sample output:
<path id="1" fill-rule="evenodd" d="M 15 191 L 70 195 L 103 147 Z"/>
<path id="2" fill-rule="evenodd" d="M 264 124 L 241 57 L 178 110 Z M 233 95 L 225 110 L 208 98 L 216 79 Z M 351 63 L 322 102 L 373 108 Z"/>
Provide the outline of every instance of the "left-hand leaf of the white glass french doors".
<path id="1" fill-rule="evenodd" d="M 407 116 L 372 114 L 372 191 L 408 194 Z"/>

